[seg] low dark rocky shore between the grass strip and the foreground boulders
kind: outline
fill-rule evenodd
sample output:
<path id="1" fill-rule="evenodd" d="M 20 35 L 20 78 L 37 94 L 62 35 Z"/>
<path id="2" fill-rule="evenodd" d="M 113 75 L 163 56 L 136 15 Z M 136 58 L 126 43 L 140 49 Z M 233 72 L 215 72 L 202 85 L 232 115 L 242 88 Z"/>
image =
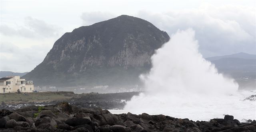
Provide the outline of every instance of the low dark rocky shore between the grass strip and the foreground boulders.
<path id="1" fill-rule="evenodd" d="M 138 95 L 140 92 L 127 92 L 127 93 L 83 93 L 83 94 L 75 94 L 73 92 L 40 92 L 40 93 L 26 93 L 26 95 L 20 96 L 18 98 L 19 100 L 25 100 L 25 101 L 17 101 L 16 103 L 10 103 L 10 102 L 0 102 L 0 109 L 8 109 L 8 110 L 15 110 L 19 108 L 26 107 L 28 105 L 52 105 L 59 102 L 66 101 L 71 105 L 75 105 L 77 107 L 84 107 L 84 108 L 97 108 L 100 107 L 102 109 L 123 109 L 125 106 L 125 101 L 128 101 L 132 98 L 134 95 Z M 9 93 L 6 93 L 6 97 L 9 96 L 17 96 L 17 95 L 8 95 Z M 14 94 L 14 93 L 11 93 Z M 34 94 L 38 95 L 38 100 L 34 100 L 32 102 L 26 101 L 24 98 L 31 98 L 35 96 Z M 48 101 L 41 101 L 41 98 L 47 98 L 45 96 L 48 96 Z M 56 95 L 62 95 L 69 98 L 60 98 L 57 100 L 52 99 L 52 96 L 56 97 Z M 51 100 L 52 99 L 52 100 Z M 51 100 L 51 101 L 50 101 Z M 15 102 L 15 100 L 13 101 Z"/>

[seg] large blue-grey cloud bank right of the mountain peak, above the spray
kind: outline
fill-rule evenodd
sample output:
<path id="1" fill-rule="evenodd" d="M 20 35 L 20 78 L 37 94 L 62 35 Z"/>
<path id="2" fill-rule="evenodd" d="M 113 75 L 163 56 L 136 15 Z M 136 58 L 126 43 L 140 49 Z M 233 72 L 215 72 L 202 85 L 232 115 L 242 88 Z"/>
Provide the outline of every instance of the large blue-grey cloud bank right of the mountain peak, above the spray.
<path id="1" fill-rule="evenodd" d="M 204 57 L 237 52 L 256 54 L 255 25 L 250 19 L 247 19 L 248 16 L 253 17 L 250 14 L 253 10 L 246 14 L 248 10 L 244 10 L 244 8 L 223 8 L 221 10 L 222 15 L 220 15 L 219 10 L 219 8 L 215 10 L 211 8 L 210 11 L 198 9 L 162 14 L 143 11 L 138 13 L 138 17 L 152 22 L 169 35 L 178 29 L 194 29 L 196 31 L 195 37 L 200 45 L 199 50 Z M 240 14 L 233 13 L 228 16 L 229 12 L 232 11 L 240 12 Z"/>

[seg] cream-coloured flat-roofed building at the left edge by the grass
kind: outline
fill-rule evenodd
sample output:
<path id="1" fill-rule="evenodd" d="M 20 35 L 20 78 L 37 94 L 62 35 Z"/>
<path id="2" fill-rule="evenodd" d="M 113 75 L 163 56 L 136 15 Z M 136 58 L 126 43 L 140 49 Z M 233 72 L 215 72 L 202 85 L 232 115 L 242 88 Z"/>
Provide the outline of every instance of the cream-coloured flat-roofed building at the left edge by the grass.
<path id="1" fill-rule="evenodd" d="M 20 76 L 9 76 L 0 78 L 0 93 L 14 93 L 20 89 L 21 92 L 33 92 L 33 81 L 26 81 Z"/>

